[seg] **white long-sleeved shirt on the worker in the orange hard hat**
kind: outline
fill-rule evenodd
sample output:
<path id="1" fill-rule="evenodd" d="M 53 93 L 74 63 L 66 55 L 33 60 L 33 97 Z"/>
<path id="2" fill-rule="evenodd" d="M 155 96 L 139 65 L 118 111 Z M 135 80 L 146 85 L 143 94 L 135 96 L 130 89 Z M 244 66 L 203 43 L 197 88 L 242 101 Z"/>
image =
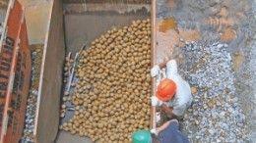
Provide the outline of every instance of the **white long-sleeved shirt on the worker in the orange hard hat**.
<path id="1" fill-rule="evenodd" d="M 167 102 L 167 106 L 173 108 L 173 114 L 183 116 L 192 103 L 192 95 L 189 84 L 182 79 L 177 72 L 177 63 L 171 60 L 166 64 L 166 76 L 176 83 L 176 94 Z"/>

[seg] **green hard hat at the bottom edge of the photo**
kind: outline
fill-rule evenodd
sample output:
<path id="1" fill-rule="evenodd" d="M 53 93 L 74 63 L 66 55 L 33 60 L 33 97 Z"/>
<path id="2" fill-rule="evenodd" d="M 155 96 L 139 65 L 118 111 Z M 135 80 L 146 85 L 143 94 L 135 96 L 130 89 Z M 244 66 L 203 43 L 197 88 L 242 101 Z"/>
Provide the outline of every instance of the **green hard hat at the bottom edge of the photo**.
<path id="1" fill-rule="evenodd" d="M 151 143 L 151 133 L 146 130 L 138 130 L 132 134 L 133 143 Z"/>

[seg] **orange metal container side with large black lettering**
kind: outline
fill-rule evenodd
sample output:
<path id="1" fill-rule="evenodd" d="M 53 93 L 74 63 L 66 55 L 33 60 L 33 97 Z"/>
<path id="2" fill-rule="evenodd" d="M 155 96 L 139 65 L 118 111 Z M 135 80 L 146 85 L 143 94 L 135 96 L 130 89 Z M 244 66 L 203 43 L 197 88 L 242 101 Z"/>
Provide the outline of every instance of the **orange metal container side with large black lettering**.
<path id="1" fill-rule="evenodd" d="M 9 1 L 0 52 L 0 143 L 17 143 L 23 133 L 31 77 L 25 9 Z"/>

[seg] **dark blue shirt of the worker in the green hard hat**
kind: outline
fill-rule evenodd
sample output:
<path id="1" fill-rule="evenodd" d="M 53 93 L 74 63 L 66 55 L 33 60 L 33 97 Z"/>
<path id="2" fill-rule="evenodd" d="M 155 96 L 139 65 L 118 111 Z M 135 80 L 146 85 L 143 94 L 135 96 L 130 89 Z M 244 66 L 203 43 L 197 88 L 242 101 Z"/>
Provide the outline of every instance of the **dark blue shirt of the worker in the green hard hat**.
<path id="1" fill-rule="evenodd" d="M 178 130 L 178 122 L 172 121 L 160 132 L 160 143 L 189 143 L 187 136 Z"/>

